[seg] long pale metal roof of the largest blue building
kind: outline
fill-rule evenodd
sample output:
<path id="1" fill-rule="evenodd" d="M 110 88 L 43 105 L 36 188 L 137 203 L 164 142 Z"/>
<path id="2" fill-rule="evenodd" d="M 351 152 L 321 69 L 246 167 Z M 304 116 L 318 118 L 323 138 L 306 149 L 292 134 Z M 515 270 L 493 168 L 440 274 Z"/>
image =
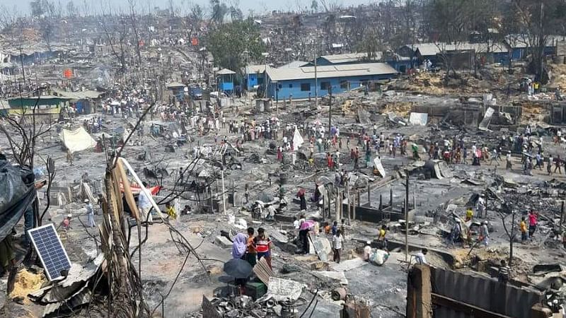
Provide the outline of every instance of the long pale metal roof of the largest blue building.
<path id="1" fill-rule="evenodd" d="M 386 63 L 365 63 L 318 66 L 316 68 L 316 73 L 318 78 L 332 78 L 395 74 L 397 71 Z M 272 81 L 308 79 L 315 77 L 315 68 L 314 66 L 300 67 L 296 69 L 272 69 L 268 67 L 267 74 L 270 76 Z"/>

